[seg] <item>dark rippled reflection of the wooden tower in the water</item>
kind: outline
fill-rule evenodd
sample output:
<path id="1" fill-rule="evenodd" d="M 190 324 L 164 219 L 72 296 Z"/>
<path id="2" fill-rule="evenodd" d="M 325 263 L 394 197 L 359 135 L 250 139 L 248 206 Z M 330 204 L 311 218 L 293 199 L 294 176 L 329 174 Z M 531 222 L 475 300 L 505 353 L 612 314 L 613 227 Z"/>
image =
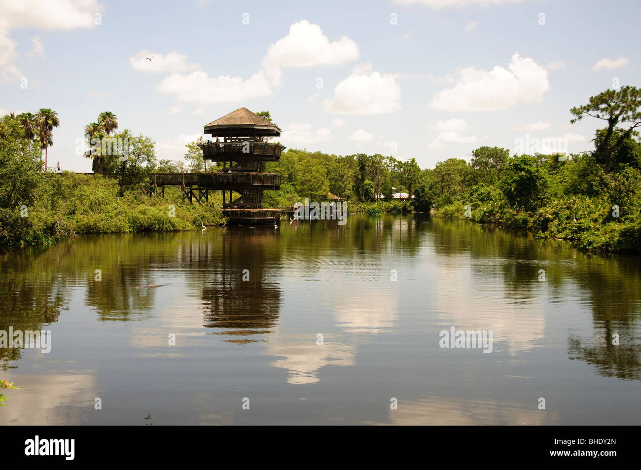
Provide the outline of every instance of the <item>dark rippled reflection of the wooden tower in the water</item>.
<path id="1" fill-rule="evenodd" d="M 269 280 L 274 267 L 273 230 L 264 233 L 230 228 L 222 240 L 221 264 L 214 280 L 203 287 L 203 301 L 208 304 L 205 326 L 223 328 L 221 335 L 237 335 L 232 342 L 256 339 L 247 335 L 269 333 L 278 324 L 281 292 L 277 282 Z M 247 270 L 247 271 L 244 271 Z M 248 281 L 244 281 L 243 278 Z"/>

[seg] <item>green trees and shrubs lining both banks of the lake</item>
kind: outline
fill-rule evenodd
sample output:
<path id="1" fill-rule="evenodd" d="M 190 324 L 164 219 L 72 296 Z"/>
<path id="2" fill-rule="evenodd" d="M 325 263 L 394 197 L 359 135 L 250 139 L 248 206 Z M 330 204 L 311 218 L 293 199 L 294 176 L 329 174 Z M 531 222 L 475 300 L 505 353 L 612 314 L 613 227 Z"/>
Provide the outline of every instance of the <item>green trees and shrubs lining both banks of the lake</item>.
<path id="1" fill-rule="evenodd" d="M 0 120 L 0 242 L 37 244 L 78 233 L 195 230 L 203 223 L 224 223 L 217 192 L 204 206 L 182 206 L 178 188 L 167 187 L 164 198 L 141 192 L 153 171 L 221 170 L 203 160 L 197 146 L 201 140 L 187 145 L 184 160 L 158 161 L 151 138 L 117 132 L 117 117 L 104 112 L 85 128 L 88 140 L 126 141 L 127 155 L 96 149 L 80 155 L 92 159 L 95 171 L 120 176 L 60 176 L 43 172 L 42 151 L 46 154 L 53 145 L 51 130 L 58 121 L 51 110 L 41 112 L 35 115 L 40 117 L 23 113 Z M 469 162 L 449 158 L 433 169 L 421 169 L 414 158 L 288 149 L 279 162 L 266 164 L 265 171 L 282 174 L 283 183 L 278 191 L 265 191 L 263 206 L 290 206 L 305 198 L 325 201 L 331 192 L 348 202 L 351 213 L 432 211 L 437 217 L 573 240 L 587 249 L 638 253 L 641 90 L 606 90 L 570 113 L 571 122 L 603 121 L 594 151 L 528 155 L 526 149 L 510 156 L 509 149 L 483 146 L 472 151 Z M 269 112 L 259 114 L 271 121 Z M 395 199 L 399 192 L 407 198 Z M 169 217 L 169 205 L 176 207 L 176 217 Z M 29 217 L 21 217 L 22 206 L 28 207 Z"/>

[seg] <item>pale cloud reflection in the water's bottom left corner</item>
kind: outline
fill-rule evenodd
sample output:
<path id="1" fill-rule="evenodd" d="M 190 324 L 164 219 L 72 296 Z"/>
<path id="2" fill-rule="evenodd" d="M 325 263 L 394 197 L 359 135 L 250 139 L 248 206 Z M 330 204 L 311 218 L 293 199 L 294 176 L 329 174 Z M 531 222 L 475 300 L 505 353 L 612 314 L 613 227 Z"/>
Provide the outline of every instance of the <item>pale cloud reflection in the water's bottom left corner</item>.
<path id="1" fill-rule="evenodd" d="M 81 412 L 93 410 L 99 396 L 92 373 L 15 374 L 6 379 L 20 390 L 3 390 L 9 406 L 1 410 L 0 424 L 81 424 Z"/>

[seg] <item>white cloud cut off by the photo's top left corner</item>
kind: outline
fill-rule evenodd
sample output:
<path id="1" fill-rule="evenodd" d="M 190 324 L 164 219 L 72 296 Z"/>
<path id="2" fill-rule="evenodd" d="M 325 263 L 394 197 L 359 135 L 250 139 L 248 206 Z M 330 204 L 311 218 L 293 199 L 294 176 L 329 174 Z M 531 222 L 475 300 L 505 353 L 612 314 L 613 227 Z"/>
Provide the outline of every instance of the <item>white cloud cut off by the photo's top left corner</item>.
<path id="1" fill-rule="evenodd" d="M 93 28 L 102 10 L 97 0 L 0 0 L 0 28 Z"/>

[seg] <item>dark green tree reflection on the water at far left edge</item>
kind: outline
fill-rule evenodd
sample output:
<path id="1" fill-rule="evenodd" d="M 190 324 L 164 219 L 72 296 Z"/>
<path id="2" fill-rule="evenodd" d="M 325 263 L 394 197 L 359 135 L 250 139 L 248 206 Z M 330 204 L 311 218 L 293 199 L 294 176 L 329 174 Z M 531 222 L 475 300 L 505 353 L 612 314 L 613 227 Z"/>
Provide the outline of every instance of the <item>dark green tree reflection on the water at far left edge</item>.
<path id="1" fill-rule="evenodd" d="M 0 254 L 0 330 L 42 330 L 58 321 L 69 303 L 69 271 L 56 265 L 48 249 L 29 248 Z M 0 368 L 21 357 L 19 348 L 0 348 Z"/>

